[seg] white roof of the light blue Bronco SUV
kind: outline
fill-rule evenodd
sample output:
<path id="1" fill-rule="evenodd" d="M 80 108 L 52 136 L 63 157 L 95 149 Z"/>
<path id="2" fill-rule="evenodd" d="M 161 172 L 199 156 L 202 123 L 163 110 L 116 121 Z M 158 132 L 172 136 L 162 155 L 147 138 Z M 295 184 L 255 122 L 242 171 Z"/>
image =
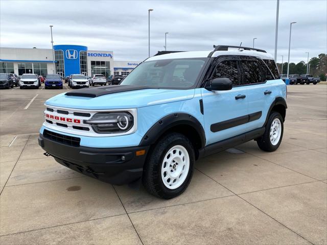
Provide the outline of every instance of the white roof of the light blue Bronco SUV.
<path id="1" fill-rule="evenodd" d="M 209 54 L 211 53 L 213 53 L 213 51 L 177 52 L 177 53 L 170 53 L 165 55 L 152 56 L 149 59 L 147 59 L 147 61 L 163 60 L 163 59 L 204 58 L 204 57 L 208 57 Z M 254 50 L 244 50 L 242 47 L 240 47 L 240 49 L 235 48 L 233 50 L 228 50 L 228 51 L 215 51 L 211 55 L 211 57 L 218 57 L 220 55 L 255 56 L 255 57 L 260 57 L 262 59 L 273 60 L 273 56 L 269 53 L 258 52 Z"/>

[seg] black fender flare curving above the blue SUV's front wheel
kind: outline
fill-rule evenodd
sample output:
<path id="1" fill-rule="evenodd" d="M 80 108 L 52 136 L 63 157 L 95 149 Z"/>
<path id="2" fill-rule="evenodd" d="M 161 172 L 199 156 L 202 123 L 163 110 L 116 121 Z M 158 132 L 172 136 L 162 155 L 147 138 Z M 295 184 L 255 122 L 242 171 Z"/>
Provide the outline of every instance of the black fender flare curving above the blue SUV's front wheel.
<path id="1" fill-rule="evenodd" d="M 201 147 L 204 147 L 204 129 L 197 118 L 187 113 L 173 113 L 159 119 L 143 136 L 139 146 L 146 146 L 155 143 L 164 132 L 179 125 L 188 125 L 194 128 L 200 136 Z"/>

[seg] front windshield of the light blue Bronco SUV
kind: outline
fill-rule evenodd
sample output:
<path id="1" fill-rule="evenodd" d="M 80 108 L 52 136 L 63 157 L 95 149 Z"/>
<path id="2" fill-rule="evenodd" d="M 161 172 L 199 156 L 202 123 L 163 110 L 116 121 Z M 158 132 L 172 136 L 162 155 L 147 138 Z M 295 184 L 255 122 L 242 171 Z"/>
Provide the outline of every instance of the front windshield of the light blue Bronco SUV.
<path id="1" fill-rule="evenodd" d="M 146 61 L 138 65 L 121 83 L 159 88 L 191 88 L 206 58 Z"/>

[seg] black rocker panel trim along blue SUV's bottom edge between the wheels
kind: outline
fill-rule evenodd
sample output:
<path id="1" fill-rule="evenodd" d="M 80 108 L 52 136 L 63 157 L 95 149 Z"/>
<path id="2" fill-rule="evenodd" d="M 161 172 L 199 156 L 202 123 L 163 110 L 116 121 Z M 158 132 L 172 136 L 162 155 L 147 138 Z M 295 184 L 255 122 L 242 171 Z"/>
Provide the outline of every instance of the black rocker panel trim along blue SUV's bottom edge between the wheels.
<path id="1" fill-rule="evenodd" d="M 228 138 L 228 139 L 224 139 L 222 141 L 219 141 L 219 142 L 216 142 L 213 144 L 209 144 L 199 150 L 199 159 L 202 157 L 206 157 L 206 156 L 215 154 L 217 152 L 224 151 L 228 148 L 232 148 L 236 145 L 242 144 L 242 143 L 250 141 L 252 139 L 259 138 L 260 136 L 262 136 L 264 134 L 264 132 L 265 132 L 265 127 L 262 127 L 259 129 L 249 131 L 244 134 L 240 134 L 240 135 Z"/>

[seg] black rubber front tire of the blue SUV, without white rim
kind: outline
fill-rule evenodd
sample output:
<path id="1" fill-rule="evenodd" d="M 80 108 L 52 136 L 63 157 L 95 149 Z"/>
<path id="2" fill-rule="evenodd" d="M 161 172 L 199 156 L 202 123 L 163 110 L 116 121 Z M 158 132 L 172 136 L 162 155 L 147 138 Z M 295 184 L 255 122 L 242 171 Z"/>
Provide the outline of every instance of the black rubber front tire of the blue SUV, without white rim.
<path id="1" fill-rule="evenodd" d="M 176 189 L 169 189 L 165 186 L 161 178 L 161 166 L 168 150 L 174 145 L 183 146 L 189 154 L 190 165 L 188 174 L 183 183 Z M 177 197 L 189 186 L 194 170 L 195 154 L 191 141 L 182 134 L 170 133 L 161 138 L 149 152 L 147 161 L 143 170 L 143 185 L 152 195 L 162 198 L 171 199 Z"/>

